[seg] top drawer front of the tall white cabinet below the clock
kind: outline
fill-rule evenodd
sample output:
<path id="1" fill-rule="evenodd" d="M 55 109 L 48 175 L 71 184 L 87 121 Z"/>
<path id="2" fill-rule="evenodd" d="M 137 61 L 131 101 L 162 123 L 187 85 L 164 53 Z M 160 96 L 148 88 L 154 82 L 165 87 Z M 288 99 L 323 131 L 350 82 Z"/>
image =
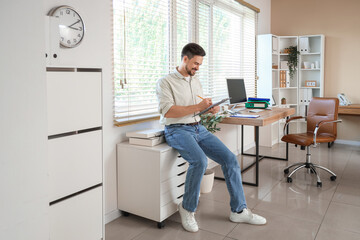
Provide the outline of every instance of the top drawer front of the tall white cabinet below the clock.
<path id="1" fill-rule="evenodd" d="M 99 127 L 101 72 L 47 72 L 48 135 Z"/>

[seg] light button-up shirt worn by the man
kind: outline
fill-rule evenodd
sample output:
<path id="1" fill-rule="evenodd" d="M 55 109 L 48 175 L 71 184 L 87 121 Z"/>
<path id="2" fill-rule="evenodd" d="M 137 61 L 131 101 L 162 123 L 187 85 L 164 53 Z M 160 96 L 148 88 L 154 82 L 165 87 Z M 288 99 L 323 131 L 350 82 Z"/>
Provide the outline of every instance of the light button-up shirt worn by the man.
<path id="1" fill-rule="evenodd" d="M 199 79 L 195 76 L 187 80 L 177 69 L 157 82 L 156 96 L 159 102 L 160 123 L 170 125 L 176 123 L 199 122 L 200 117 L 189 114 L 180 118 L 166 118 L 169 109 L 176 106 L 190 106 L 202 101 L 197 95 L 203 96 Z"/>

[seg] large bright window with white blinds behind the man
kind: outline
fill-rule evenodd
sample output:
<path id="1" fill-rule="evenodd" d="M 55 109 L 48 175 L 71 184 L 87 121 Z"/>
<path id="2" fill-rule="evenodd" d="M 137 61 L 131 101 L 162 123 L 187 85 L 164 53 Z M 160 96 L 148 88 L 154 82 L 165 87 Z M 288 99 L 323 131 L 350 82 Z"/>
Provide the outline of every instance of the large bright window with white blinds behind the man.
<path id="1" fill-rule="evenodd" d="M 243 77 L 255 95 L 256 12 L 235 0 L 113 0 L 114 119 L 157 118 L 156 82 L 181 61 L 189 42 L 206 51 L 204 94 L 227 96 L 226 78 Z"/>

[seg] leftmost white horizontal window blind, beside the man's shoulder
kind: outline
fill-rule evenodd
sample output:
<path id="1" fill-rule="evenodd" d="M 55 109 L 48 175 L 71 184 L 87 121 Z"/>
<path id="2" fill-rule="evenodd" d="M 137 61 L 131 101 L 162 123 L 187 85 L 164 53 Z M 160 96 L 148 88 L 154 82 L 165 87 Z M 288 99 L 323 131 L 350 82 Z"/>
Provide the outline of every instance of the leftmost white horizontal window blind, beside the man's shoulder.
<path id="1" fill-rule="evenodd" d="M 169 72 L 169 2 L 113 3 L 115 120 L 156 117 L 156 82 Z"/>

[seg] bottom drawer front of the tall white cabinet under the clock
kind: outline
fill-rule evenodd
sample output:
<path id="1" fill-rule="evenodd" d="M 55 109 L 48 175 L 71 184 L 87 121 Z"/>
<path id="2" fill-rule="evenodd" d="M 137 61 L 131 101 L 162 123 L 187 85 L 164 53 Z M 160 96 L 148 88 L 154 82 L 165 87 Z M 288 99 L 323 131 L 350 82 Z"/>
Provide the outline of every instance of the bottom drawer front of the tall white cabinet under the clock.
<path id="1" fill-rule="evenodd" d="M 102 187 L 50 206 L 50 240 L 100 240 Z"/>

